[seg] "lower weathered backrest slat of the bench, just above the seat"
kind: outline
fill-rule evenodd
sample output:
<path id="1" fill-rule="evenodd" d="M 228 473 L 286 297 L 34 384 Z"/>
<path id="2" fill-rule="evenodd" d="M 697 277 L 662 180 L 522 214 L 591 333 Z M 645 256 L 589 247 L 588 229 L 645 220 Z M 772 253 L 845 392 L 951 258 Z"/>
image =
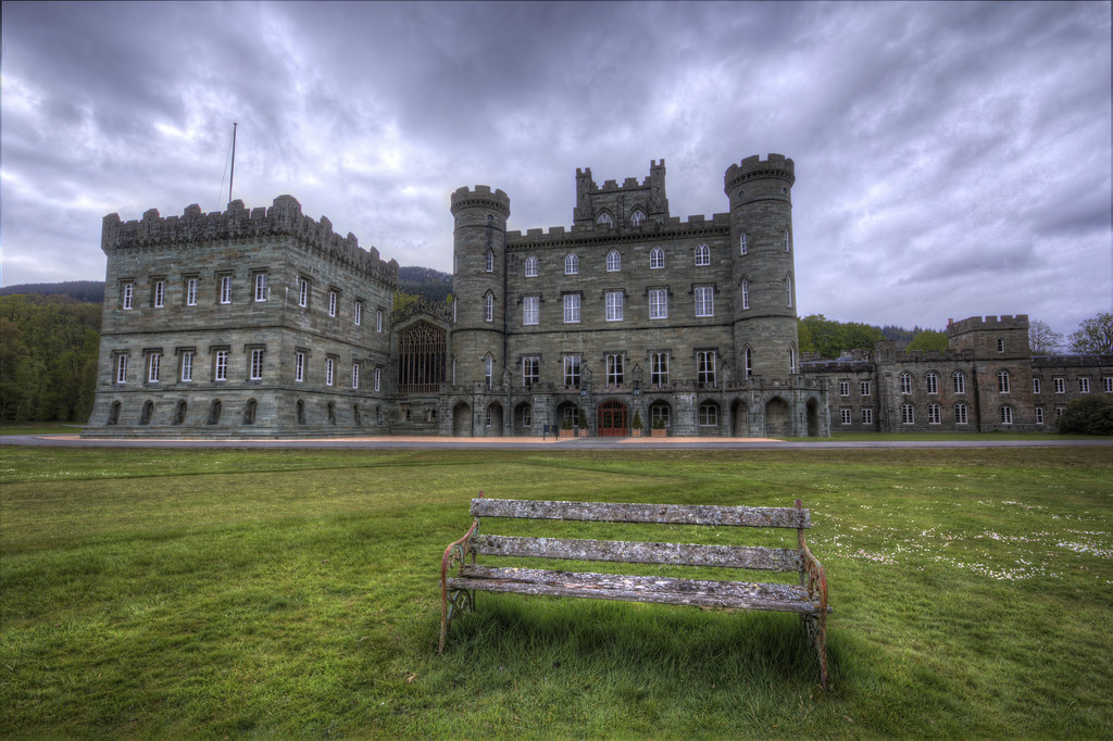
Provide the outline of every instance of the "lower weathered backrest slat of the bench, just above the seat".
<path id="1" fill-rule="evenodd" d="M 719 566 L 765 571 L 800 571 L 801 567 L 799 551 L 745 545 L 628 543 L 623 541 L 581 541 L 562 537 L 512 537 L 476 534 L 473 546 L 475 553 L 480 555 L 667 563 L 679 566 Z"/>

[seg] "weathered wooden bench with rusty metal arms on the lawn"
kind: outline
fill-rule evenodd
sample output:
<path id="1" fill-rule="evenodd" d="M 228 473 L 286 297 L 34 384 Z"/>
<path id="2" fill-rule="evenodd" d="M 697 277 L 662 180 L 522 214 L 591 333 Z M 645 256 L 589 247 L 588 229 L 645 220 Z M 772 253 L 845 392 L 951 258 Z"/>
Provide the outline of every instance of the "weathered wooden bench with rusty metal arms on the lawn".
<path id="1" fill-rule="evenodd" d="M 454 613 L 474 610 L 475 592 L 621 600 L 689 604 L 735 610 L 770 610 L 800 614 L 808 636 L 819 654 L 819 682 L 827 689 L 827 577 L 804 539 L 811 526 L 800 501 L 795 507 L 738 507 L 676 504 L 609 504 L 602 502 L 534 502 L 489 500 L 482 492 L 472 500 L 475 517 L 467 533 L 449 545 L 441 561 L 441 643 Z M 485 517 L 583 521 L 593 523 L 647 523 L 657 525 L 791 527 L 797 547 L 697 545 L 520 537 L 480 532 Z M 476 556 L 525 556 L 575 561 L 673 566 L 731 567 L 799 572 L 799 585 L 708 581 L 674 576 L 630 576 L 491 566 Z M 498 563 L 498 562 L 496 562 Z M 459 564 L 459 573 L 449 575 Z"/>

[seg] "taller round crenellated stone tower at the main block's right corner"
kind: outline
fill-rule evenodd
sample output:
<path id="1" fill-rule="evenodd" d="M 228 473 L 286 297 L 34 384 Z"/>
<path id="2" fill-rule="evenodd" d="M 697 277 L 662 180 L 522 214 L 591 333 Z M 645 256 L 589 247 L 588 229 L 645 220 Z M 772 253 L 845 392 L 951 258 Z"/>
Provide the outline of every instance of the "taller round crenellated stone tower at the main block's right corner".
<path id="1" fill-rule="evenodd" d="M 766 160 L 755 155 L 741 165 L 731 165 L 723 178 L 730 199 L 735 367 L 739 377 L 787 378 L 799 369 L 794 169 L 792 160 L 782 155 L 770 154 Z"/>

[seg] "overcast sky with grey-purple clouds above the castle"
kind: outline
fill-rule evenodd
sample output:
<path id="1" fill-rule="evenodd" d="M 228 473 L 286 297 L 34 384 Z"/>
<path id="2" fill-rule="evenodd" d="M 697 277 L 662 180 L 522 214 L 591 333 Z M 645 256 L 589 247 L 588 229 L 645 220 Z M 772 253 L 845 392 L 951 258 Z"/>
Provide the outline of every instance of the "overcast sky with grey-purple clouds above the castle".
<path id="1" fill-rule="evenodd" d="M 102 279 L 101 218 L 234 197 L 452 265 L 449 195 L 571 226 L 574 175 L 673 216 L 796 161 L 799 312 L 942 328 L 1111 310 L 1111 4 L 3 3 L 3 285 Z M 223 189 L 221 189 L 223 182 Z"/>

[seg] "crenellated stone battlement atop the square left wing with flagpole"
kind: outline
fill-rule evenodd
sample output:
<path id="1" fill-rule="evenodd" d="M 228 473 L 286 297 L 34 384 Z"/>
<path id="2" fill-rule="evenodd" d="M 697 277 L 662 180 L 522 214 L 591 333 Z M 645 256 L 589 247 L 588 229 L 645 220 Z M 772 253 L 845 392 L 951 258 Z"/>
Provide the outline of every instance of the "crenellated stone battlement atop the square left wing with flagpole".
<path id="1" fill-rule="evenodd" d="M 121 221 L 119 214 L 104 218 L 100 248 L 106 255 L 125 249 L 156 247 L 184 247 L 230 239 L 258 239 L 275 235 L 289 235 L 306 246 L 328 253 L 351 267 L 372 277 L 397 285 L 398 264 L 384 263 L 378 250 L 359 247 L 351 231 L 341 237 L 333 231 L 333 224 L 322 216 L 319 221 L 302 214 L 302 205 L 288 195 L 278 196 L 269 208 L 248 210 L 244 201 L 234 200 L 226 211 L 204 214 L 191 204 L 181 216 L 159 216 L 157 208 L 144 211 L 142 219 Z"/>

